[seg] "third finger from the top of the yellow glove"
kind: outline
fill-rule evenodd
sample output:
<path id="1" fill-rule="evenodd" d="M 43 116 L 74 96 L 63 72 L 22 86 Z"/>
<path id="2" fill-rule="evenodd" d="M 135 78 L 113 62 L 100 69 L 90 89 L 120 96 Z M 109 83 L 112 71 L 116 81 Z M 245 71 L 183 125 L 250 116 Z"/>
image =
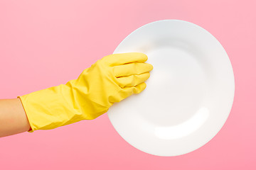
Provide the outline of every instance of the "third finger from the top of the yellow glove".
<path id="1" fill-rule="evenodd" d="M 128 77 L 118 77 L 117 82 L 119 86 L 122 88 L 124 87 L 132 87 L 137 86 L 138 84 L 142 84 L 144 81 L 149 79 L 150 74 L 149 72 L 143 73 L 143 74 L 133 74 Z"/>

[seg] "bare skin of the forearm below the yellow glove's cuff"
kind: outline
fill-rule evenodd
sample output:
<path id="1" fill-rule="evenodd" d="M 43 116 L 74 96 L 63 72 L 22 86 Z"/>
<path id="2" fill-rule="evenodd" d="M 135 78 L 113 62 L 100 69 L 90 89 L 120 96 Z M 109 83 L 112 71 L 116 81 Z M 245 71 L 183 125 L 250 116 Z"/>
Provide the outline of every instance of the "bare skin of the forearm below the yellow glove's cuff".
<path id="1" fill-rule="evenodd" d="M 30 129 L 20 98 L 0 99 L 0 137 Z"/>

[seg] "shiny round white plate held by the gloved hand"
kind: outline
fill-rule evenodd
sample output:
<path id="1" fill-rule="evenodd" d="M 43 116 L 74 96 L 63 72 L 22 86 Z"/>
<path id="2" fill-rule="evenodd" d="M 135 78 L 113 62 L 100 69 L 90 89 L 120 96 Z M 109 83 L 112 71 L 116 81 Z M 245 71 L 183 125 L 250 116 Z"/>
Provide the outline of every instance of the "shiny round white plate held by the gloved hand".
<path id="1" fill-rule="evenodd" d="M 142 93 L 108 111 L 130 145 L 177 156 L 202 147 L 223 127 L 233 104 L 233 69 L 207 30 L 187 21 L 155 21 L 128 35 L 114 50 L 122 52 L 143 52 L 154 66 Z"/>

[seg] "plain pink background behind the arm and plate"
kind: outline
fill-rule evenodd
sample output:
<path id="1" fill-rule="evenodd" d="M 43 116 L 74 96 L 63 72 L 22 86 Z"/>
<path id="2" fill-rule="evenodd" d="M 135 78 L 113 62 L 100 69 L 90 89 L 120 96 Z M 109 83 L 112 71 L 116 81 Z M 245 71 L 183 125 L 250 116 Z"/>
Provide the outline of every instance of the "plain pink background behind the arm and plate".
<path id="1" fill-rule="evenodd" d="M 206 28 L 235 73 L 230 116 L 213 140 L 178 157 L 135 149 L 107 114 L 0 138 L 0 169 L 256 169 L 256 3 L 245 1 L 0 1 L 1 98 L 64 84 L 129 33 L 163 19 Z"/>

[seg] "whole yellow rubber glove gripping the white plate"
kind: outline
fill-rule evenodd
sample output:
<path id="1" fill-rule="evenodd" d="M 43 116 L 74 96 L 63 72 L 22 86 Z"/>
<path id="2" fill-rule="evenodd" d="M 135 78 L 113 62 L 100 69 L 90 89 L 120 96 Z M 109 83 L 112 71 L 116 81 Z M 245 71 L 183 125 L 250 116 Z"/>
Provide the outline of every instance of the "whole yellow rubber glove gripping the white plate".
<path id="1" fill-rule="evenodd" d="M 146 88 L 153 69 L 140 52 L 107 55 L 66 84 L 17 96 L 31 130 L 50 130 L 80 120 L 92 120 Z"/>

